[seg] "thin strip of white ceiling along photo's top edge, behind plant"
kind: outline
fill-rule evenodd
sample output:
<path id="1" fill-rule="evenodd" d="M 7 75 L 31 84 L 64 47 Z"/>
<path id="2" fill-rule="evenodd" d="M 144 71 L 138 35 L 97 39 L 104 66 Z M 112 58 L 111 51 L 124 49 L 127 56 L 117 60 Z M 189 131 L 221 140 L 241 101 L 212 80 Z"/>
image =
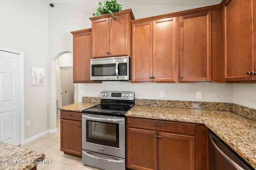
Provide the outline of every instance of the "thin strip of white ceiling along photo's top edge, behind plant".
<path id="1" fill-rule="evenodd" d="M 98 4 L 104 0 L 51 0 L 56 4 Z M 210 6 L 220 4 L 221 0 L 117 0 L 119 4 L 175 5 L 175 6 Z"/>

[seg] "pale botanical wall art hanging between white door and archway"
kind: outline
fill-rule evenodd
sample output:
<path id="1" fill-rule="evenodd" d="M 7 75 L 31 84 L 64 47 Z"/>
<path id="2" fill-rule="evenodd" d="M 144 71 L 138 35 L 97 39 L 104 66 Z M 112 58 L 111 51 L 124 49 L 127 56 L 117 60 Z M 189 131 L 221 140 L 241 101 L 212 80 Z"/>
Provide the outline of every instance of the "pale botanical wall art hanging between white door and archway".
<path id="1" fill-rule="evenodd" d="M 31 67 L 31 85 L 43 86 L 45 82 L 44 68 Z"/>

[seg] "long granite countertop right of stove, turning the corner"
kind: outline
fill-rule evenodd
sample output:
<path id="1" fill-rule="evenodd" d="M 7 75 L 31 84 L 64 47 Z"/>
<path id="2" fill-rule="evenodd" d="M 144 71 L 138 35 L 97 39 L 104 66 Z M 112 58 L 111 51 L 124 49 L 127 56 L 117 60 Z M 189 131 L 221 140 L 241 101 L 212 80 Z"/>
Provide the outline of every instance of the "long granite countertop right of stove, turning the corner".
<path id="1" fill-rule="evenodd" d="M 202 123 L 256 168 L 256 121 L 230 111 L 134 106 L 126 116 Z"/>

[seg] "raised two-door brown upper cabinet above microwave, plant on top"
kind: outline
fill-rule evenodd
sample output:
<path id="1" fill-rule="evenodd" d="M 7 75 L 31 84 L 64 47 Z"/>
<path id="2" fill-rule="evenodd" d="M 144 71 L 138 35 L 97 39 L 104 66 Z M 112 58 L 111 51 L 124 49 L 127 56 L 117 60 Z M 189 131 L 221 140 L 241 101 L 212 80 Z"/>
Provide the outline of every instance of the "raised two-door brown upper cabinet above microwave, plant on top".
<path id="1" fill-rule="evenodd" d="M 130 56 L 130 20 L 132 10 L 92 17 L 92 57 Z"/>

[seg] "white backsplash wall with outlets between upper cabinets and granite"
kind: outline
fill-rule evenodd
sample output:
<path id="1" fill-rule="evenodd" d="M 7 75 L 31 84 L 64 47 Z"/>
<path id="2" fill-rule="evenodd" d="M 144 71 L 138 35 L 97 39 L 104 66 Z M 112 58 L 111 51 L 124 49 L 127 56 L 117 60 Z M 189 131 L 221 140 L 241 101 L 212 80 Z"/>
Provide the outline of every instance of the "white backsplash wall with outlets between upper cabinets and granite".
<path id="1" fill-rule="evenodd" d="M 167 84 L 167 83 L 130 83 L 130 82 L 102 82 L 102 84 L 80 84 L 79 102 L 82 96 L 98 97 L 98 90 L 131 91 L 135 92 L 136 99 L 184 100 L 204 102 L 233 102 L 232 84 L 194 83 L 194 84 Z M 164 98 L 160 98 L 160 91 L 164 91 Z M 196 92 L 202 92 L 202 99 L 196 99 Z"/>

